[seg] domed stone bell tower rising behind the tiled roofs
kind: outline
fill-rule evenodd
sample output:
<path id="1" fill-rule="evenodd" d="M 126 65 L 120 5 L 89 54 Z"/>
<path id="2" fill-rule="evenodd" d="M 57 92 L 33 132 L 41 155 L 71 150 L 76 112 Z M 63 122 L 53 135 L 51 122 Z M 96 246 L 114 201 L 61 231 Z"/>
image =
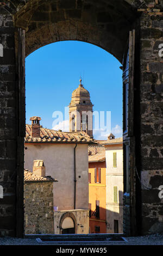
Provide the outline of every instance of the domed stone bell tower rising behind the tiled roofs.
<path id="1" fill-rule="evenodd" d="M 69 107 L 70 131 L 84 131 L 93 137 L 93 105 L 89 92 L 83 87 L 82 79 L 80 84 L 72 93 Z"/>

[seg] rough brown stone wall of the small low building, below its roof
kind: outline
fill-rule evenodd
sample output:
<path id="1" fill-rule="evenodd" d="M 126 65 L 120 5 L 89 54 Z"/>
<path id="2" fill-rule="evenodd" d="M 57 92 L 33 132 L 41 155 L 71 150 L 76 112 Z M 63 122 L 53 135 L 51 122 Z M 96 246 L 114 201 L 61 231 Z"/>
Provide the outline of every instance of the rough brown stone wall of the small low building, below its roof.
<path id="1" fill-rule="evenodd" d="M 54 234 L 53 181 L 25 181 L 25 234 Z"/>

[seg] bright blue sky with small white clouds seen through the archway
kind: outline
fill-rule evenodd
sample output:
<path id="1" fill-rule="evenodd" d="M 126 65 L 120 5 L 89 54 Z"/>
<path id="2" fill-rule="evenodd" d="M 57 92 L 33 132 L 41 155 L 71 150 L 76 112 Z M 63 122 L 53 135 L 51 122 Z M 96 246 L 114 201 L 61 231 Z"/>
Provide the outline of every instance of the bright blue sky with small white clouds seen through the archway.
<path id="1" fill-rule="evenodd" d="M 121 63 L 110 53 L 95 45 L 80 41 L 62 41 L 46 45 L 26 58 L 26 123 L 30 117 L 41 117 L 41 125 L 55 125 L 54 111 L 64 114 L 71 94 L 82 76 L 89 90 L 94 111 L 111 111 L 111 131 L 122 136 L 122 70 Z M 68 121 L 64 120 L 65 130 Z M 103 132 L 103 133 L 101 133 Z M 106 139 L 107 131 L 93 132 L 96 139 Z"/>

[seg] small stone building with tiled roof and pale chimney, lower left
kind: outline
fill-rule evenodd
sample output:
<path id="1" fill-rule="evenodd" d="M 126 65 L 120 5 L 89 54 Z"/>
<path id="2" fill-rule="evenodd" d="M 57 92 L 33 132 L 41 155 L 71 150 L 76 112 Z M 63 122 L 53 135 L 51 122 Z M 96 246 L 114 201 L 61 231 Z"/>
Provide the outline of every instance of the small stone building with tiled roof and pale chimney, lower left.
<path id="1" fill-rule="evenodd" d="M 24 170 L 25 234 L 54 234 L 53 184 L 56 181 L 45 176 L 42 160 L 34 161 L 33 173 Z"/>

